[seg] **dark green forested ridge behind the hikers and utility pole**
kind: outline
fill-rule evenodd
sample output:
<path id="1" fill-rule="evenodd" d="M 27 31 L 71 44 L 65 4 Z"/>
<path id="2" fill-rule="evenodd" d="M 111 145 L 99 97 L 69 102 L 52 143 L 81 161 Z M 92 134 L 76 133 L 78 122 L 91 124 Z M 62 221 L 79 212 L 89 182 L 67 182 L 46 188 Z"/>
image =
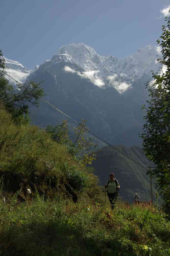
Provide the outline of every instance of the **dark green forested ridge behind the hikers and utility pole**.
<path id="1" fill-rule="evenodd" d="M 128 155 L 144 167 L 151 163 L 144 155 L 142 148 L 138 146 L 126 147 L 116 146 L 124 154 Z M 119 194 L 123 200 L 132 201 L 134 193 L 140 195 L 140 199 L 150 200 L 150 180 L 146 175 L 146 170 L 136 164 L 120 152 L 110 146 L 103 147 L 97 152 L 97 159 L 93 162 L 93 167 L 97 171 L 99 182 L 104 185 L 109 178 L 109 173 L 114 173 L 118 179 L 121 189 Z M 153 186 L 153 195 L 155 199 L 155 188 Z"/>

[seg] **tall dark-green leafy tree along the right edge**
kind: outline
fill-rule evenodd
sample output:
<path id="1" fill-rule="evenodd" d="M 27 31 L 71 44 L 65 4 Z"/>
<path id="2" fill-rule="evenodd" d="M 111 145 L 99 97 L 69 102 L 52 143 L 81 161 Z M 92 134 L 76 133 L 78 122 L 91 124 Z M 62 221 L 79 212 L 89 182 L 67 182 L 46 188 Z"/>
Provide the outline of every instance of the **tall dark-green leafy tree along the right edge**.
<path id="1" fill-rule="evenodd" d="M 170 10 L 169 10 L 170 14 Z M 143 147 L 146 156 L 154 162 L 152 170 L 158 178 L 158 187 L 165 204 L 170 206 L 170 17 L 166 17 L 167 26 L 162 26 L 161 47 L 162 68 L 153 74 L 153 83 L 146 84 L 150 99 L 143 105 L 146 115 L 143 126 Z"/>

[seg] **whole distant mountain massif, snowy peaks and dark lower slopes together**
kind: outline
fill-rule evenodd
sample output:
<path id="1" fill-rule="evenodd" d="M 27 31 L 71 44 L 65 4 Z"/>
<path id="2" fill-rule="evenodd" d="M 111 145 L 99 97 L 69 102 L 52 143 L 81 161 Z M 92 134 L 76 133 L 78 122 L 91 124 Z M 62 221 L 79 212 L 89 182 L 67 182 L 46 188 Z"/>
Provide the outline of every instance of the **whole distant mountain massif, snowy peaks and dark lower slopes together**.
<path id="1" fill-rule="evenodd" d="M 21 82 L 43 81 L 45 99 L 50 103 L 76 121 L 87 119 L 90 130 L 108 142 L 131 146 L 142 144 L 138 136 L 144 122 L 141 105 L 148 99 L 144 83 L 152 80 L 150 70 L 159 69 L 159 57 L 156 46 L 118 59 L 101 56 L 80 43 L 62 46 L 58 54 L 33 71 L 7 60 L 7 72 L 13 72 L 12 77 L 18 76 Z M 30 111 L 43 126 L 65 119 L 43 102 L 38 109 L 30 106 Z"/>

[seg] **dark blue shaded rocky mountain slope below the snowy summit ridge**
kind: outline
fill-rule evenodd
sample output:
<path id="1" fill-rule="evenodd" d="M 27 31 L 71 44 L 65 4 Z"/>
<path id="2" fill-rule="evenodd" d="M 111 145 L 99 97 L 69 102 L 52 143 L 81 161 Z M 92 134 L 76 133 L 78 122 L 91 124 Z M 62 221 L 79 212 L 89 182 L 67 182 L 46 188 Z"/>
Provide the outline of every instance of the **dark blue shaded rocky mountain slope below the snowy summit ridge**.
<path id="1" fill-rule="evenodd" d="M 131 129 L 135 126 L 139 131 L 142 129 L 142 111 L 136 114 L 142 102 L 121 95 L 114 87 L 102 89 L 95 86 L 90 79 L 81 76 L 83 72 L 83 68 L 70 55 L 57 54 L 40 65 L 28 79 L 37 83 L 44 81 L 42 87 L 47 101 L 78 122 L 87 119 L 90 130 L 102 138 L 112 143 L 128 130 L 132 136 L 128 145 L 134 145 L 133 141 L 140 144 L 141 140 Z M 54 125 L 65 119 L 43 102 L 38 109 L 31 106 L 30 110 L 34 118 L 44 123 Z M 133 136 L 137 139 L 133 139 Z M 126 144 L 126 139 L 124 141 Z"/>

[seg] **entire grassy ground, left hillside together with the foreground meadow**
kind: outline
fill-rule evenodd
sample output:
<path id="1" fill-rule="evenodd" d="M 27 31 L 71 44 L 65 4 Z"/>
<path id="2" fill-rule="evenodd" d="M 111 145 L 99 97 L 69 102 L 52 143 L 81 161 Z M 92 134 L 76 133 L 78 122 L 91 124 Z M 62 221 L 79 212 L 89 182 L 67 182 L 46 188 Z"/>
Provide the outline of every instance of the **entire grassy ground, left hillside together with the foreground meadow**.
<path id="1" fill-rule="evenodd" d="M 3 108 L 0 124 L 0 255 L 170 255 L 161 209 L 118 201 L 111 211 L 98 178 L 66 147 Z"/>

